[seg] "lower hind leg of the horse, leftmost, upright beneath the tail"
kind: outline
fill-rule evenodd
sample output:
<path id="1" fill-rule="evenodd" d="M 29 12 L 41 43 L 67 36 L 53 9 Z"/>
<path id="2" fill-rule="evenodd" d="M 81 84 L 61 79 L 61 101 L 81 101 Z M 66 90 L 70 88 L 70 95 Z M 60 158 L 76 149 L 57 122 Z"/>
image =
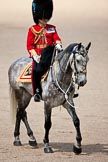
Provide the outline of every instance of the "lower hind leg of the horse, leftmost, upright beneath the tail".
<path id="1" fill-rule="evenodd" d="M 20 138 L 19 138 L 19 135 L 20 135 L 20 123 L 21 123 L 20 111 L 17 110 L 15 130 L 14 130 L 15 141 L 13 143 L 15 146 L 21 146 L 22 145 L 21 141 L 20 141 Z"/>

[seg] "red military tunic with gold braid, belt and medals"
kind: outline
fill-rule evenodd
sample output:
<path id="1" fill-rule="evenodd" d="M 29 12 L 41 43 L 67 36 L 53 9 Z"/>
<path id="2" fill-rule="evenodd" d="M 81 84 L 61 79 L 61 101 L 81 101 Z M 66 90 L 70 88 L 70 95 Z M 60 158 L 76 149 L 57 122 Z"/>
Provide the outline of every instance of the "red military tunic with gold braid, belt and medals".
<path id="1" fill-rule="evenodd" d="M 44 28 L 33 25 L 29 28 L 27 36 L 27 50 L 32 57 L 35 54 L 41 55 L 42 50 L 48 45 L 61 43 L 56 27 L 47 24 Z"/>

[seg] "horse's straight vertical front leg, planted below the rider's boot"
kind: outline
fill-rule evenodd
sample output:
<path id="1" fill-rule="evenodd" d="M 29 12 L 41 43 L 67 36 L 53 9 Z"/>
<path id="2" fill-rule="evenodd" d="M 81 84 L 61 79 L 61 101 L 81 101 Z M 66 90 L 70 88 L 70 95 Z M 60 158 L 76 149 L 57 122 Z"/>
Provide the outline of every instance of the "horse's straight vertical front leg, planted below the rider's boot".
<path id="1" fill-rule="evenodd" d="M 45 124 L 44 124 L 44 128 L 45 128 L 45 136 L 44 136 L 44 152 L 45 153 L 52 153 L 53 150 L 52 148 L 49 146 L 49 130 L 51 128 L 51 108 L 44 103 L 44 115 L 45 115 Z"/>

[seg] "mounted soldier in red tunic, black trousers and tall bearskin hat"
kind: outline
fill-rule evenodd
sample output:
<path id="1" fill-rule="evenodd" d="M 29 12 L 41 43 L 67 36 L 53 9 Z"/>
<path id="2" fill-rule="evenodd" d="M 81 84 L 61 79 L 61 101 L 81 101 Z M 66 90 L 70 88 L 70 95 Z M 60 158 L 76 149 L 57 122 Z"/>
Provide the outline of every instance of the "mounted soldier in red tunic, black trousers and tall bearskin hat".
<path id="1" fill-rule="evenodd" d="M 47 24 L 53 14 L 52 0 L 33 0 L 32 14 L 35 25 L 29 28 L 27 50 L 32 63 L 32 87 L 34 101 L 40 101 L 42 95 L 41 76 L 48 70 L 54 48 L 62 51 L 62 42 L 56 27 Z M 45 53 L 46 56 L 42 57 Z"/>

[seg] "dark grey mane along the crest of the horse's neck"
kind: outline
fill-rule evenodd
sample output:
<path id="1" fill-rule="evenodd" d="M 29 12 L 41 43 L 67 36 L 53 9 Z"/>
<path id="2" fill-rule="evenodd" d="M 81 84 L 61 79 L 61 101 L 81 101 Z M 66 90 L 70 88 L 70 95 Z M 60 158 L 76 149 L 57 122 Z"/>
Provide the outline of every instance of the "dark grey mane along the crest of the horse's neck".
<path id="1" fill-rule="evenodd" d="M 78 43 L 73 43 L 73 44 L 70 44 L 68 47 L 66 47 L 62 52 L 60 52 L 57 57 L 56 57 L 56 60 L 61 60 L 61 58 L 63 57 L 64 54 L 71 54 L 72 52 L 72 49 L 78 45 Z"/>

